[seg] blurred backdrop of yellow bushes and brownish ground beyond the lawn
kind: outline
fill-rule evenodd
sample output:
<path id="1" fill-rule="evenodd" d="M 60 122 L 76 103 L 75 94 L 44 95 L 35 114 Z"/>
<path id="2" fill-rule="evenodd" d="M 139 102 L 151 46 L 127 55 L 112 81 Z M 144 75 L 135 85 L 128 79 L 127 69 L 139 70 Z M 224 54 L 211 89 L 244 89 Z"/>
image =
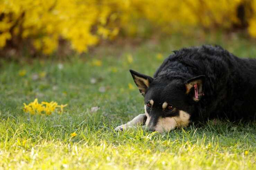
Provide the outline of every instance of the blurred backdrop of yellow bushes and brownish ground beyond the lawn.
<path id="1" fill-rule="evenodd" d="M 239 37 L 255 43 L 256 0 L 0 1 L 1 58 L 63 58 L 166 39 L 225 44 L 222 38 Z"/>

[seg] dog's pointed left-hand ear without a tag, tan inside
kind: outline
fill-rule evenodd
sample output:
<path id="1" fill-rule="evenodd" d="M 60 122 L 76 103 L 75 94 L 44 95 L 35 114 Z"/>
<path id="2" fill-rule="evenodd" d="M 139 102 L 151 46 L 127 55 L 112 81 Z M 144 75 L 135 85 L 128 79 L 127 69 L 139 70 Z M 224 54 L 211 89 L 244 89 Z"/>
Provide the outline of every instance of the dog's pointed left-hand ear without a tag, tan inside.
<path id="1" fill-rule="evenodd" d="M 148 75 L 140 74 L 133 70 L 130 70 L 130 72 L 131 72 L 132 78 L 133 78 L 135 84 L 138 86 L 142 96 L 145 96 L 145 93 L 146 93 L 147 89 L 149 88 L 150 83 L 153 81 L 153 78 Z"/>

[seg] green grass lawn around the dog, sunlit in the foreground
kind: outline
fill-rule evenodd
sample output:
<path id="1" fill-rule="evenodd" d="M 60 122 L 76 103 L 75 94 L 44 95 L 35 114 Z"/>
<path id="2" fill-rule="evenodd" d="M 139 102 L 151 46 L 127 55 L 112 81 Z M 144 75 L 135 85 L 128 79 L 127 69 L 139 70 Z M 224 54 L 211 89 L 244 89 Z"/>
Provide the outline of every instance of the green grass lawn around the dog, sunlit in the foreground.
<path id="1" fill-rule="evenodd" d="M 256 169 L 255 122 L 209 121 L 162 134 L 140 128 L 114 131 L 143 113 L 130 68 L 152 75 L 164 60 L 158 53 L 166 57 L 180 47 L 204 43 L 223 45 L 241 57 L 256 56 L 255 42 L 246 38 L 209 36 L 172 37 L 120 50 L 99 47 L 65 61 L 2 60 L 0 169 Z M 101 66 L 92 64 L 96 59 Z M 26 74 L 20 76 L 20 70 Z M 35 98 L 68 106 L 50 116 L 24 113 L 23 103 Z M 100 109 L 92 112 L 96 106 Z"/>

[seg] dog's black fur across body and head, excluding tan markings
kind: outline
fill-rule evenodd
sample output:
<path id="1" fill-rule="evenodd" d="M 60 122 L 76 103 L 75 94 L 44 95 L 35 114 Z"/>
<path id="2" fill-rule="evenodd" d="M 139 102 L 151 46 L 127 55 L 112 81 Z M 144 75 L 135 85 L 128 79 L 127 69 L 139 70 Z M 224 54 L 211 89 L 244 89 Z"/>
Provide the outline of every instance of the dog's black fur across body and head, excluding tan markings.
<path id="1" fill-rule="evenodd" d="M 200 75 L 202 93 L 195 101 L 194 87 L 188 91 L 186 84 Z M 176 108 L 162 111 L 161 105 L 155 104 L 154 108 L 147 108 L 156 118 L 155 122 L 159 116 L 176 116 L 178 110 L 189 113 L 191 120 L 255 120 L 255 59 L 238 58 L 220 46 L 183 48 L 174 51 L 157 69 L 153 79 L 148 79 L 150 86 L 145 91 L 145 104 L 154 98 L 154 103 L 168 101 Z"/>

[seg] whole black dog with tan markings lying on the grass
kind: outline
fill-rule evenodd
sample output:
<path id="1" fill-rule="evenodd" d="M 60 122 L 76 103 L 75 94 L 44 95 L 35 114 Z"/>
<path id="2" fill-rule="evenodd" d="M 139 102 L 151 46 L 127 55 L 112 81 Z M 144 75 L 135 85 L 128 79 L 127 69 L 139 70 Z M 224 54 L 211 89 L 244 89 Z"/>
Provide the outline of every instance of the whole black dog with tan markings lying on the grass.
<path id="1" fill-rule="evenodd" d="M 211 45 L 173 52 L 153 78 L 130 70 L 144 96 L 145 113 L 116 131 L 142 125 L 166 132 L 215 118 L 255 120 L 255 59 L 238 58 Z"/>

